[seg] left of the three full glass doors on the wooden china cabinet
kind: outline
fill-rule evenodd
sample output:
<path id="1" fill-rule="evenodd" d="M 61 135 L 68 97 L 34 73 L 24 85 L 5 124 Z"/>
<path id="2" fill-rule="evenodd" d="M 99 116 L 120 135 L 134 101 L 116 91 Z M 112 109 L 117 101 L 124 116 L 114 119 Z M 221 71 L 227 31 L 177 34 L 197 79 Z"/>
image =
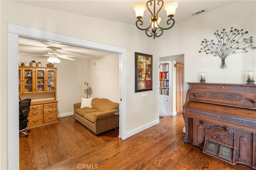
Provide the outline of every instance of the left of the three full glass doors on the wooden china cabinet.
<path id="1" fill-rule="evenodd" d="M 34 93 L 34 69 L 26 69 L 23 68 L 23 89 L 22 92 L 24 93 Z"/>

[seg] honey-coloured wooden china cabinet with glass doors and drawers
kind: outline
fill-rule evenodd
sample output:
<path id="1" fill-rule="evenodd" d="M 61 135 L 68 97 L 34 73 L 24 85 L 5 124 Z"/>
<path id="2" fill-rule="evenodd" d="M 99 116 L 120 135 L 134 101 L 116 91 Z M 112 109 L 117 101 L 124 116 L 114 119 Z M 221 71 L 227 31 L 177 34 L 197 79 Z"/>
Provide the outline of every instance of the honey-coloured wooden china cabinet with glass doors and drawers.
<path id="1" fill-rule="evenodd" d="M 54 67 L 19 66 L 20 98 L 32 99 L 28 128 L 58 123 L 56 69 Z"/>

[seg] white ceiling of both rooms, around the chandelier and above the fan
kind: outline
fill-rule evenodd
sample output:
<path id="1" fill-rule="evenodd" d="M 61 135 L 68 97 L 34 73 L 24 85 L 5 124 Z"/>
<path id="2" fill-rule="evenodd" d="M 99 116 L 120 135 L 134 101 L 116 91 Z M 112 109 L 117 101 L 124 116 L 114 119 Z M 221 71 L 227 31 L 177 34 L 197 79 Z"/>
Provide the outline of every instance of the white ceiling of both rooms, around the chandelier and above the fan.
<path id="1" fill-rule="evenodd" d="M 96 18 L 102 18 L 106 20 L 112 20 L 116 22 L 123 22 L 126 24 L 133 24 L 135 26 L 136 17 L 135 12 L 132 9 L 133 4 L 146 3 L 146 0 L 11 0 L 21 4 L 27 4 L 31 6 L 37 6 L 42 8 L 48 8 L 52 10 L 59 10 L 63 12 L 70 12 L 74 14 L 80 14 L 84 16 L 91 16 Z M 169 2 L 165 0 L 164 2 Z M 172 1 L 170 1 L 172 2 Z M 237 2 L 237 0 L 180 0 L 179 6 L 174 16 L 175 22 L 180 22 L 195 16 L 196 13 L 201 10 L 205 10 L 207 13 L 216 8 Z M 96 11 L 96 12 L 95 12 Z M 159 16 L 165 17 L 164 10 L 162 9 Z M 199 14 L 199 15 L 203 15 Z M 143 18 L 150 18 L 149 12 L 144 13 Z M 144 23 L 146 24 L 144 19 Z M 149 20 L 149 19 L 148 19 Z M 164 22 L 163 22 L 164 23 Z M 149 21 L 148 21 L 149 24 Z M 161 24 L 161 23 L 160 23 Z M 86 48 L 74 47 L 70 45 L 63 45 L 60 43 L 41 42 L 37 40 L 30 40 L 20 38 L 19 41 L 20 53 L 38 54 L 36 52 L 47 53 L 48 46 L 60 47 L 58 50 L 61 54 L 76 55 L 78 58 L 95 58 L 110 55 L 112 53 L 104 51 L 95 51 Z"/>

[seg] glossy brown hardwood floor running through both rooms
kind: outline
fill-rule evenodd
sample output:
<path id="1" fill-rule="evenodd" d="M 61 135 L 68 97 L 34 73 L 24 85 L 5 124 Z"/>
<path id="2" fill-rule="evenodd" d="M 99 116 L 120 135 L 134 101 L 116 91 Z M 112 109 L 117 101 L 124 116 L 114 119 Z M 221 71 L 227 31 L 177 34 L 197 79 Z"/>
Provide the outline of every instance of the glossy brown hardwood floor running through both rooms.
<path id="1" fill-rule="evenodd" d="M 202 153 L 184 143 L 182 114 L 126 140 L 115 137 L 118 129 L 94 135 L 73 116 L 59 123 L 33 128 L 20 138 L 20 170 L 250 170 Z"/>

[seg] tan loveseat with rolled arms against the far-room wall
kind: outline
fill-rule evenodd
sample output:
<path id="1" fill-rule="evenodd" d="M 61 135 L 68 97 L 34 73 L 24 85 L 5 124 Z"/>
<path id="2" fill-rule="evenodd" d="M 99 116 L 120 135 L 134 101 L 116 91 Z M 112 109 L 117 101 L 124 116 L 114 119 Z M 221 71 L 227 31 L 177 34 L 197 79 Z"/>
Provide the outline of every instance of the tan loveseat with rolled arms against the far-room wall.
<path id="1" fill-rule="evenodd" d="M 100 134 L 119 127 L 119 117 L 114 114 L 118 106 L 119 103 L 108 99 L 94 98 L 92 108 L 80 108 L 81 103 L 75 103 L 74 117 L 95 134 Z"/>

